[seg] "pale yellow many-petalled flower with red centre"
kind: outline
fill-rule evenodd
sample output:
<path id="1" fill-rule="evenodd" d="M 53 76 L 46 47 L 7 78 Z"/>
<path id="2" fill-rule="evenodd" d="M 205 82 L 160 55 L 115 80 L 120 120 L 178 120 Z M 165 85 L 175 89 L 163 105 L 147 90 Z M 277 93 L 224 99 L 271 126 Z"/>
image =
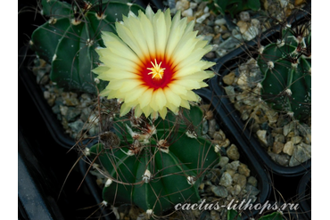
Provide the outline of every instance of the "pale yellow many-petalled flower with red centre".
<path id="1" fill-rule="evenodd" d="M 171 20 L 169 9 L 154 13 L 148 6 L 145 14 L 123 16 L 118 36 L 103 32 L 106 48 L 96 50 L 103 64 L 93 71 L 109 81 L 101 95 L 124 102 L 120 115 L 134 108 L 136 117 L 165 118 L 168 109 L 190 109 L 189 102 L 198 101 L 193 90 L 207 86 L 203 80 L 214 73 L 205 69 L 215 64 L 201 60 L 211 46 L 193 29 L 194 21 L 187 24 L 180 12 Z"/>

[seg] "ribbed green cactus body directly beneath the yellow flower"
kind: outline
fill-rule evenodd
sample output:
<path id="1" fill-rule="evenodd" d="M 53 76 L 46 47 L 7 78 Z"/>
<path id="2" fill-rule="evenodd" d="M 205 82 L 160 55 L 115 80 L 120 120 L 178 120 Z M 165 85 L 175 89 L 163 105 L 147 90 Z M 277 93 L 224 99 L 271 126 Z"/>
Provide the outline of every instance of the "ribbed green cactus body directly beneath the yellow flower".
<path id="1" fill-rule="evenodd" d="M 198 115 L 198 120 L 187 124 L 168 113 L 165 120 L 157 119 L 152 126 L 145 118 L 138 119 L 138 125 L 132 123 L 132 118 L 115 118 L 120 147 L 108 148 L 99 143 L 89 151 L 110 179 L 103 189 L 104 201 L 134 203 L 159 216 L 177 203 L 200 200 L 202 177 L 219 163 L 219 154 L 198 135 L 202 110 L 192 107 L 189 112 Z"/>

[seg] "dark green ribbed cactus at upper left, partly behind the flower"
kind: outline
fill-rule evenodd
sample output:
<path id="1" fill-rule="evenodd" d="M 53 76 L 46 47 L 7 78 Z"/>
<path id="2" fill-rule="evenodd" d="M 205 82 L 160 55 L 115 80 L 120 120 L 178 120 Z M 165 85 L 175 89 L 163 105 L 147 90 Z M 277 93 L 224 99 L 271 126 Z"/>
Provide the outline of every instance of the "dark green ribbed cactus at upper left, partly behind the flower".
<path id="1" fill-rule="evenodd" d="M 99 90 L 106 86 L 95 80 L 91 71 L 98 62 L 95 48 L 103 46 L 101 31 L 115 33 L 114 22 L 121 20 L 122 14 L 143 10 L 136 4 L 94 2 L 42 0 L 42 13 L 49 20 L 34 31 L 30 45 L 40 58 L 52 64 L 52 81 L 66 90 L 96 94 L 95 85 Z"/>

